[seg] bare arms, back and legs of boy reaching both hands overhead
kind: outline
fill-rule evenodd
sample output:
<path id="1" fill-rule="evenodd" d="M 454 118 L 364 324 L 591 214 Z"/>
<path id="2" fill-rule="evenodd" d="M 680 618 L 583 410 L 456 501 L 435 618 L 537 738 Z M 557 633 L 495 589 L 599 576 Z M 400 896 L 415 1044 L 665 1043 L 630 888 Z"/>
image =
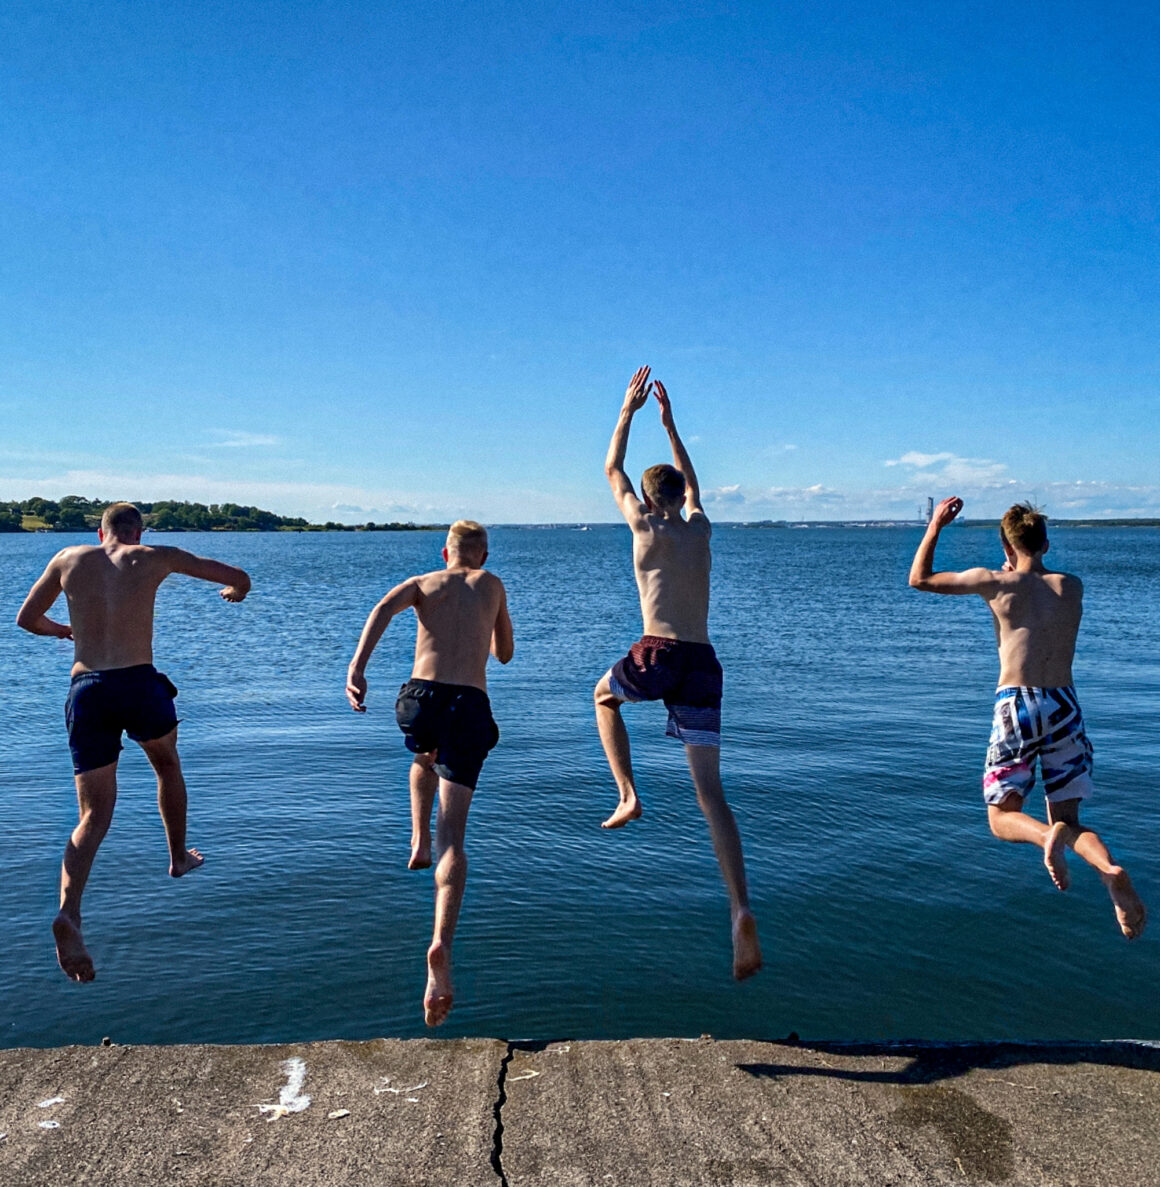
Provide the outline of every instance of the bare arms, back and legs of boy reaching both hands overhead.
<path id="1" fill-rule="evenodd" d="M 649 382 L 649 375 L 651 369 L 641 367 L 629 381 L 608 446 L 604 475 L 633 533 L 633 571 L 640 594 L 642 634 L 708 643 L 712 528 L 701 504 L 701 487 L 689 451 L 677 432 L 668 392 L 659 380 Z M 640 499 L 625 471 L 633 417 L 648 402 L 649 395 L 654 395 L 660 406 L 660 423 L 668 437 L 673 465 L 685 478 L 684 499 L 671 506 L 657 506 L 647 497 Z M 602 827 L 620 829 L 639 819 L 644 810 L 633 775 L 628 731 L 620 711 L 622 702 L 613 694 L 607 674 L 596 685 L 595 700 L 596 726 L 619 793 L 616 810 Z M 749 909 L 741 836 L 721 785 L 721 751 L 716 747 L 686 745 L 685 757 L 729 891 L 733 972 L 741 980 L 761 967 L 761 946 Z"/>

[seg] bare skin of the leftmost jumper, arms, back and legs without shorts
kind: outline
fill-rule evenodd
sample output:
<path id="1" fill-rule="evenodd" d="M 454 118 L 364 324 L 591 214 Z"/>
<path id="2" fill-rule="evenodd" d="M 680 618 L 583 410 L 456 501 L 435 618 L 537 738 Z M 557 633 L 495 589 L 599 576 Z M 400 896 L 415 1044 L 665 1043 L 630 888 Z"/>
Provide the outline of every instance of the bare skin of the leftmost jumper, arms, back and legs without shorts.
<path id="1" fill-rule="evenodd" d="M 141 544 L 140 531 L 97 532 L 99 545 L 64 548 L 50 561 L 17 615 L 17 626 L 33 635 L 71 639 L 72 675 L 153 662 L 153 604 L 161 582 L 184 573 L 224 588 L 227 602 L 241 602 L 249 577 L 234 565 L 195 557 L 182 548 Z M 69 622 L 50 618 L 64 594 Z M 182 877 L 204 857 L 185 846 L 186 793 L 177 755 L 177 729 L 141 743 L 157 775 L 157 802 L 170 851 L 170 875 Z M 113 821 L 116 763 L 76 775 L 80 821 L 69 838 L 61 869 L 61 909 L 52 923 L 57 960 L 71 980 L 96 976 L 81 931 L 81 899 L 97 849 Z"/>

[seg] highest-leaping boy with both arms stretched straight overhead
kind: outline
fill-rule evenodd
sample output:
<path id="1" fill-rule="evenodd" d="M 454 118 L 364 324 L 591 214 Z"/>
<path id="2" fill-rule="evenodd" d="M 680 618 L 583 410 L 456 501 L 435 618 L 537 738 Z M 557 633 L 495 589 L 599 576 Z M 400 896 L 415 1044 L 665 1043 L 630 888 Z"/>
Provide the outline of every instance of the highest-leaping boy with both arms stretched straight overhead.
<path id="1" fill-rule="evenodd" d="M 641 367 L 625 393 L 604 474 L 616 504 L 633 531 L 633 567 L 640 591 L 644 636 L 596 685 L 596 725 L 620 793 L 604 829 L 620 829 L 641 814 L 633 779 L 625 702 L 664 700 L 665 732 L 685 744 L 697 802 L 709 823 L 717 863 L 733 908 L 733 975 L 739 980 L 761 967 L 758 925 L 749 910 L 741 837 L 721 786 L 722 672 L 709 642 L 709 535 L 697 475 L 673 423 L 665 386 L 648 382 Z M 654 465 L 641 481 L 644 502 L 625 472 L 633 415 L 655 392 L 660 423 L 674 465 Z M 687 519 L 682 516 L 682 509 Z"/>

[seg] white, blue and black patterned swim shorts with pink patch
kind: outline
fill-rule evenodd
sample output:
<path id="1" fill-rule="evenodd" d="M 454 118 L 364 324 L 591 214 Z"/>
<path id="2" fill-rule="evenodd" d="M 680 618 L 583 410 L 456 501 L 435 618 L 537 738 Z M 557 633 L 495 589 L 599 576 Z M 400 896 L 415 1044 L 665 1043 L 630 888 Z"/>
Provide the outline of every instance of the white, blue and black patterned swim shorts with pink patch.
<path id="1" fill-rule="evenodd" d="M 1012 792 L 1026 798 L 1035 785 L 1037 758 L 1048 802 L 1091 795 L 1091 743 L 1075 688 L 1010 685 L 995 693 L 983 799 L 999 804 Z"/>

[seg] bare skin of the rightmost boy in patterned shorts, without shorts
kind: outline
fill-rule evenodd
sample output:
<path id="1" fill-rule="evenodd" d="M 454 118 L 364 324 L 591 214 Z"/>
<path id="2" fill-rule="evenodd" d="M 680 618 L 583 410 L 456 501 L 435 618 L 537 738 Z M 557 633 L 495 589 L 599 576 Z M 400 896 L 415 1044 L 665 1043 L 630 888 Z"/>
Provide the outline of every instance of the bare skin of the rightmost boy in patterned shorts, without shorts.
<path id="1" fill-rule="evenodd" d="M 936 508 L 911 564 L 912 589 L 930 594 L 976 594 L 988 605 L 999 647 L 999 687 L 1022 685 L 1039 688 L 1071 686 L 1076 637 L 1083 615 L 1083 583 L 1071 573 L 1053 572 L 1044 564 L 1045 544 L 1035 553 L 1021 552 L 1000 531 L 1007 557 L 1002 569 L 936 572 L 934 550 L 939 533 L 963 509 L 958 497 L 944 499 Z M 1047 804 L 1047 823 L 1023 812 L 1023 800 L 1012 793 L 987 806 L 991 832 L 1001 840 L 1039 846 L 1052 882 L 1066 890 L 1071 876 L 1066 850 L 1073 850 L 1098 874 L 1115 907 L 1120 929 L 1139 937 L 1147 912 L 1123 867 L 1116 864 L 1098 834 L 1079 823 L 1079 800 Z"/>

